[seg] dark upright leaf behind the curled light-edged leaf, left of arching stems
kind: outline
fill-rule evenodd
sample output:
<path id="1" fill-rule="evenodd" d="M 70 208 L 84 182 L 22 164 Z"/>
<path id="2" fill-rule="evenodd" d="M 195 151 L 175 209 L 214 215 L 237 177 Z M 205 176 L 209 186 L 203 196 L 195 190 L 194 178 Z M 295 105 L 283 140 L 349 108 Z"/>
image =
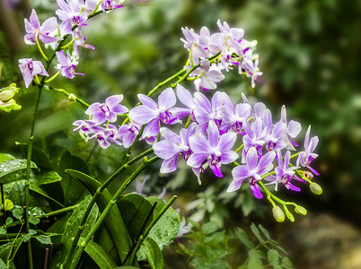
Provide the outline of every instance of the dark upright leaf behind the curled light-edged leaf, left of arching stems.
<path id="1" fill-rule="evenodd" d="M 85 161 L 70 154 L 68 151 L 61 155 L 57 165 L 57 172 L 62 178 L 60 183 L 64 192 L 64 204 L 67 206 L 76 204 L 80 199 L 84 198 L 86 190 L 83 184 L 74 180 L 71 175 L 66 173 L 66 169 L 75 169 L 85 174 L 89 174 L 89 168 Z"/>

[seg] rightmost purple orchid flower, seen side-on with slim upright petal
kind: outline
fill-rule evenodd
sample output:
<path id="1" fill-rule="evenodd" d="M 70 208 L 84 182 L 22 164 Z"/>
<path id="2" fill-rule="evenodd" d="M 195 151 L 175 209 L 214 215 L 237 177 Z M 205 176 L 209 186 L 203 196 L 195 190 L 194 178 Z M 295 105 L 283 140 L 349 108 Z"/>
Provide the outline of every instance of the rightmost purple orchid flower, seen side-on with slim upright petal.
<path id="1" fill-rule="evenodd" d="M 315 169 L 310 167 L 310 163 L 319 156 L 318 154 L 313 153 L 314 149 L 317 146 L 317 143 L 319 143 L 319 138 L 318 136 L 313 136 L 313 138 L 311 138 L 310 140 L 310 131 L 311 126 L 308 126 L 306 135 L 304 136 L 305 152 L 300 152 L 296 161 L 296 165 L 306 167 L 310 169 L 315 175 L 319 176 L 320 174 Z"/>

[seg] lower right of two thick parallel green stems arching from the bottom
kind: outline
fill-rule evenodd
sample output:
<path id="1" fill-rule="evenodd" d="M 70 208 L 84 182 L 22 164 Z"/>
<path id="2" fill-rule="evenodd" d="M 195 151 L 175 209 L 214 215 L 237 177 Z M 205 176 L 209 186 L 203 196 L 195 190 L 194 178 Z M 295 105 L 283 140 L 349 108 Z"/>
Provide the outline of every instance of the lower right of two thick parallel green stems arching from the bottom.
<path id="1" fill-rule="evenodd" d="M 110 212 L 111 207 L 117 203 L 120 195 L 123 193 L 123 191 L 128 187 L 128 185 L 145 169 L 145 167 L 149 166 L 150 164 L 154 163 L 154 161 L 158 161 L 159 157 L 155 156 L 149 161 L 144 161 L 122 184 L 121 187 L 119 187 L 118 191 L 111 197 L 110 203 L 107 205 L 107 207 L 103 210 L 101 213 L 101 216 L 99 219 L 95 222 L 95 224 L 92 226 L 92 229 L 89 231 L 86 238 L 80 243 L 79 247 L 77 248 L 75 252 L 75 256 L 73 257 L 70 269 L 75 269 L 76 265 L 78 264 L 80 257 L 83 254 L 84 248 L 88 244 L 88 242 L 92 239 L 92 236 L 95 234 L 95 232 L 101 227 L 102 221 L 105 220 L 107 214 Z"/>

